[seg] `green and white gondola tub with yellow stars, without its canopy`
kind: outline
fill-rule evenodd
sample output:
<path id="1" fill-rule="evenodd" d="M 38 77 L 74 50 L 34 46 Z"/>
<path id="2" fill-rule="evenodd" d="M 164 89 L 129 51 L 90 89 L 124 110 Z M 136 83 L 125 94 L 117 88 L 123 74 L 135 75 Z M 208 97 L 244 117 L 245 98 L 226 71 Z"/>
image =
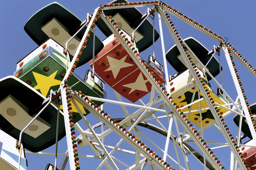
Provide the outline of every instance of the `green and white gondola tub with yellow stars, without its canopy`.
<path id="1" fill-rule="evenodd" d="M 44 44 L 18 62 L 19 66 L 22 66 L 14 72 L 14 76 L 29 84 L 43 96 L 49 96 L 50 90 L 57 91 L 59 89 L 66 73 L 65 62 L 67 59 L 61 52 L 63 52 L 63 47 L 56 41 L 48 39 Z M 26 58 L 31 59 L 28 61 Z M 26 64 L 24 64 L 25 62 Z M 76 74 L 74 74 L 73 77 L 74 79 L 67 83 L 72 90 L 82 90 L 84 94 L 98 98 L 104 97 L 104 91 L 101 87 L 101 84 L 104 84 L 104 82 L 100 79 L 101 82 L 97 84 L 91 78 L 86 78 L 85 82 Z M 103 102 L 97 103 L 99 103 L 99 105 L 103 104 Z M 78 103 L 78 106 L 83 111 L 84 115 L 89 113 L 81 104 Z M 60 108 L 62 109 L 62 105 Z M 77 116 L 75 119 L 77 122 L 81 117 L 78 114 L 78 110 L 75 107 L 73 108 L 73 115 Z"/>

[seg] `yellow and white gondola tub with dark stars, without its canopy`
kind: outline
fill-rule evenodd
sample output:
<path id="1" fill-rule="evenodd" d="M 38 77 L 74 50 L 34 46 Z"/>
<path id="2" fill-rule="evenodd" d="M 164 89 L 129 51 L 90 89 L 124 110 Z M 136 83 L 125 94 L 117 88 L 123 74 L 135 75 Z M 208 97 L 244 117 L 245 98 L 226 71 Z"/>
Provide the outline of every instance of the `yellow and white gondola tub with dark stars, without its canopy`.
<path id="1" fill-rule="evenodd" d="M 200 74 L 203 75 L 203 72 L 200 71 Z M 172 79 L 169 80 L 170 83 L 170 91 L 172 98 L 177 103 L 177 106 L 184 112 L 185 115 L 197 126 L 201 126 L 200 120 L 200 112 L 199 112 L 199 99 L 202 99 L 203 96 L 200 92 L 200 97 L 198 96 L 197 88 L 195 88 L 193 78 L 189 81 L 189 70 L 185 70 L 184 72 L 175 75 Z M 189 81 L 189 82 L 188 82 Z M 229 101 L 224 98 L 222 95 L 217 95 L 212 89 L 209 82 L 206 79 L 203 79 L 205 86 L 210 90 L 207 93 L 211 95 L 211 98 L 218 104 L 229 104 Z M 184 87 L 185 84 L 190 83 L 187 87 Z M 182 88 L 183 87 L 183 88 Z M 192 97 L 194 96 L 193 100 Z M 195 102 L 195 103 L 193 103 Z M 191 104 L 193 103 L 193 104 Z M 200 107 L 202 109 L 202 125 L 206 126 L 208 123 L 214 120 L 214 117 L 211 114 L 211 111 L 208 110 L 208 106 L 205 100 L 200 100 Z M 230 107 L 228 107 L 230 109 Z M 228 110 L 225 107 L 220 107 L 219 112 L 222 115 Z"/>

